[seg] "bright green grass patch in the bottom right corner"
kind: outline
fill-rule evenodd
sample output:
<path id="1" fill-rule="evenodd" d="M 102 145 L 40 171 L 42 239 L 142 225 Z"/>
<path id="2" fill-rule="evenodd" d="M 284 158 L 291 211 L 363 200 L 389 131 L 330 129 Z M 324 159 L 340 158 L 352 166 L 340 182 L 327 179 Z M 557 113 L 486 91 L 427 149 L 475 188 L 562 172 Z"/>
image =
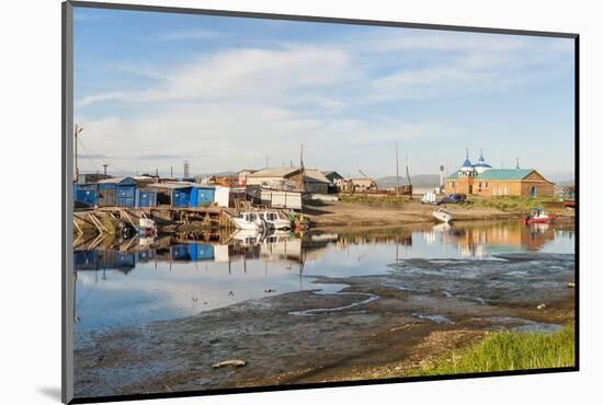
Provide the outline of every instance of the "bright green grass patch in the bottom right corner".
<path id="1" fill-rule="evenodd" d="M 556 333 L 497 332 L 480 343 L 454 350 L 409 375 L 442 375 L 572 367 L 573 325 Z"/>

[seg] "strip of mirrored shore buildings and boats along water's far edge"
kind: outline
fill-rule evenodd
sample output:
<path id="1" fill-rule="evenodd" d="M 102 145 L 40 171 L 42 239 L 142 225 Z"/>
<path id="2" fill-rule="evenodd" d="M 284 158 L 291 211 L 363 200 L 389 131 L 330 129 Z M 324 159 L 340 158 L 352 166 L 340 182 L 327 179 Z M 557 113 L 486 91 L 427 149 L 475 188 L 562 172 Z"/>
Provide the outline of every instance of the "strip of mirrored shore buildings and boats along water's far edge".
<path id="1" fill-rule="evenodd" d="M 75 247 L 76 270 L 115 269 L 128 273 L 137 263 L 234 263 L 262 259 L 266 263 L 298 264 L 316 259 L 327 250 L 345 251 L 353 245 L 396 245 L 411 248 L 413 234 L 426 246 L 456 247 L 462 257 L 483 258 L 497 253 L 538 251 L 556 235 L 572 235 L 572 229 L 556 229 L 553 224 L 523 225 L 513 222 L 436 224 L 410 231 L 397 229 L 365 233 L 316 233 L 297 238 L 289 232 L 262 235 L 239 231 L 234 234 L 172 234 L 162 238 L 133 240 L 90 240 Z M 392 257 L 394 258 L 394 257 Z"/>

